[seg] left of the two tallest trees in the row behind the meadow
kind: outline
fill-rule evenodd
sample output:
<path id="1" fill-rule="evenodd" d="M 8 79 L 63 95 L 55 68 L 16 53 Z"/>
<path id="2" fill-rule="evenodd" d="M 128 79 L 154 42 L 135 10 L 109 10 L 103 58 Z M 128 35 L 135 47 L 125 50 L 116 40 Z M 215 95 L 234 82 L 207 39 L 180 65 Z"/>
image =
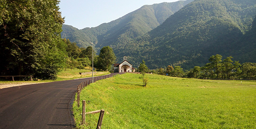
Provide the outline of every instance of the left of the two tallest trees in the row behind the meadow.
<path id="1" fill-rule="evenodd" d="M 215 68 L 215 72 L 217 74 L 217 79 L 219 78 L 219 71 L 220 71 L 220 67 L 221 67 L 221 60 L 222 59 L 222 55 L 216 54 L 216 55 L 212 55 L 209 58 L 209 61 L 211 62 L 211 66 L 213 68 Z"/>

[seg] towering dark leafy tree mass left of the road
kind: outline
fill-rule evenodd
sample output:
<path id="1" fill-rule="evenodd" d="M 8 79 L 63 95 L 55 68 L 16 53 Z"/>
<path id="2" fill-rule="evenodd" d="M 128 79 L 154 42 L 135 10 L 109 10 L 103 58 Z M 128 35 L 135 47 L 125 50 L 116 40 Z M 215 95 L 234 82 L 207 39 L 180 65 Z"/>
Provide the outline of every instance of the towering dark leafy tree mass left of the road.
<path id="1" fill-rule="evenodd" d="M 55 79 L 65 62 L 59 0 L 0 3 L 0 73 Z"/>

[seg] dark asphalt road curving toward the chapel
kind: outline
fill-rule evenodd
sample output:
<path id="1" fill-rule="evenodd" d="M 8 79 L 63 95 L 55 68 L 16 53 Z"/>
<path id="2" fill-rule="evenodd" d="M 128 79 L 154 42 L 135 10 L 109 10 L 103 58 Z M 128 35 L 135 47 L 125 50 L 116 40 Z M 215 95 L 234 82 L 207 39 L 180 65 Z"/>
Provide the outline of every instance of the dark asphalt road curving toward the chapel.
<path id="1" fill-rule="evenodd" d="M 77 85 L 89 79 L 0 89 L 0 129 L 74 129 Z"/>

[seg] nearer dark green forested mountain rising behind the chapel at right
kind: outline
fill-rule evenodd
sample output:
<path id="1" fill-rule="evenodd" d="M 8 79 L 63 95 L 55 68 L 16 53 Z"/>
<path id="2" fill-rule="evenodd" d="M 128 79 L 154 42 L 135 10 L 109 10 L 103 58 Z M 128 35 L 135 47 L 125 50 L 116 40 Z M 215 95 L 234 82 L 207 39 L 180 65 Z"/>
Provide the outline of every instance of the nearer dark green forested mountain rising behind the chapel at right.
<path id="1" fill-rule="evenodd" d="M 149 68 L 189 69 L 216 54 L 256 62 L 255 15 L 255 0 L 194 0 L 147 34 L 111 47 L 117 58 L 130 56 L 135 66 L 144 59 Z"/>

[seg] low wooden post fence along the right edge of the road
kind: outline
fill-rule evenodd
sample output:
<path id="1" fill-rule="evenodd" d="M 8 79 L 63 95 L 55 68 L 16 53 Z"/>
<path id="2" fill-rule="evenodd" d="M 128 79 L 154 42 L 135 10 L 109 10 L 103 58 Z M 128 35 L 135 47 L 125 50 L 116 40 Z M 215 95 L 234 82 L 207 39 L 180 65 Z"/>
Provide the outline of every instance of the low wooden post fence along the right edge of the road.
<path id="1" fill-rule="evenodd" d="M 84 89 L 85 87 L 89 86 L 91 83 L 95 83 L 98 80 L 102 80 L 102 79 L 106 79 L 109 77 L 113 77 L 112 74 L 108 74 L 108 75 L 104 75 L 104 76 L 99 76 L 99 77 L 93 77 L 93 80 L 86 80 L 82 83 L 80 83 L 77 86 L 77 106 L 80 107 L 80 92 L 82 89 Z M 103 120 L 103 116 L 104 116 L 104 110 L 97 110 L 97 111 L 91 111 L 91 112 L 85 112 L 85 100 L 83 100 L 83 110 L 82 110 L 82 124 L 85 124 L 85 115 L 86 114 L 96 114 L 96 113 L 100 113 L 99 114 L 99 120 L 98 120 L 98 124 L 97 124 L 97 129 L 101 129 L 102 126 L 102 120 Z"/>

